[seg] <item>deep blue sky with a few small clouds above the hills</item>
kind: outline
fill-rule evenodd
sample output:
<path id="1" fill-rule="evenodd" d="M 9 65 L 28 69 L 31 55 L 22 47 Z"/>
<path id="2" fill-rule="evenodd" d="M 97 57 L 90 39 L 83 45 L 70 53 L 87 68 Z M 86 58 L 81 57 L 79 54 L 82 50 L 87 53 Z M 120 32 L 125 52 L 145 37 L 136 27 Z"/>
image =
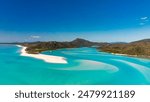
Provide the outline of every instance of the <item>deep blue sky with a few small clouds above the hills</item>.
<path id="1" fill-rule="evenodd" d="M 150 38 L 150 0 L 0 0 L 0 42 Z"/>

